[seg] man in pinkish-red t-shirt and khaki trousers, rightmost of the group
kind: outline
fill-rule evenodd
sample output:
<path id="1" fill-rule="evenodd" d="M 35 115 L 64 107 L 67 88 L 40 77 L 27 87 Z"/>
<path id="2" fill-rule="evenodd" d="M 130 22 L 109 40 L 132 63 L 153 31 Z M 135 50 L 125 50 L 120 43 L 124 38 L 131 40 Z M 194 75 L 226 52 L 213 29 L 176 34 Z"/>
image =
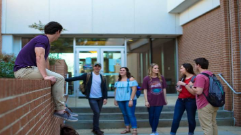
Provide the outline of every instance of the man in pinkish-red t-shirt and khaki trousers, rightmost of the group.
<path id="1" fill-rule="evenodd" d="M 208 60 L 205 58 L 197 58 L 195 61 L 195 69 L 199 73 L 207 73 L 212 75 L 212 72 L 208 71 Z M 213 107 L 203 95 L 208 95 L 209 91 L 209 79 L 203 74 L 198 74 L 194 85 L 189 83 L 190 88 L 196 93 L 196 104 L 198 109 L 198 118 L 200 125 L 205 135 L 218 135 L 218 127 L 216 123 L 216 116 L 218 107 Z"/>

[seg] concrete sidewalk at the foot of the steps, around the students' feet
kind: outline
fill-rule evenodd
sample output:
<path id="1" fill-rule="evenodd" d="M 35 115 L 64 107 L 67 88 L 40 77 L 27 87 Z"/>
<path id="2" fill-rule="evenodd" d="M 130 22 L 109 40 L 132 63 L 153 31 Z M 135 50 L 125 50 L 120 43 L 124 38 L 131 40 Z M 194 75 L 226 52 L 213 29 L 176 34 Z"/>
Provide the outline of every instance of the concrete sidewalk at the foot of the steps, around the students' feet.
<path id="1" fill-rule="evenodd" d="M 104 135 L 121 135 L 120 132 L 123 129 L 103 129 Z M 170 135 L 171 128 L 158 128 L 159 135 Z M 77 130 L 80 135 L 94 135 L 90 129 Z M 149 135 L 151 128 L 138 128 L 138 135 Z M 177 135 L 187 135 L 188 127 L 180 127 L 178 129 Z M 126 134 L 131 135 L 131 133 Z M 196 127 L 195 135 L 203 135 L 201 127 Z M 241 135 L 241 127 L 233 126 L 219 126 L 218 135 Z"/>

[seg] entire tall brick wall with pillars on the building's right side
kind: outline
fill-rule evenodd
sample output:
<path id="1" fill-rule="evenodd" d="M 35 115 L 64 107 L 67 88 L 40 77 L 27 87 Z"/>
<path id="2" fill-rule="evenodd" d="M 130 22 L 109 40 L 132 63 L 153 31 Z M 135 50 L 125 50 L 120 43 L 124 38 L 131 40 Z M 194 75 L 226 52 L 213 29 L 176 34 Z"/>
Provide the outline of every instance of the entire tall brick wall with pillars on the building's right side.
<path id="1" fill-rule="evenodd" d="M 241 0 L 239 0 L 241 10 Z M 230 2 L 230 3 L 229 3 Z M 184 62 L 205 57 L 209 70 L 222 73 L 236 91 L 241 91 L 240 45 L 237 0 L 220 0 L 220 7 L 183 25 L 183 35 L 178 38 L 179 66 Z M 241 11 L 239 13 L 241 14 Z M 223 83 L 224 84 L 224 83 Z M 234 110 L 236 125 L 241 126 L 241 95 L 234 94 L 224 84 L 226 110 Z M 234 98 L 234 106 L 233 106 Z"/>

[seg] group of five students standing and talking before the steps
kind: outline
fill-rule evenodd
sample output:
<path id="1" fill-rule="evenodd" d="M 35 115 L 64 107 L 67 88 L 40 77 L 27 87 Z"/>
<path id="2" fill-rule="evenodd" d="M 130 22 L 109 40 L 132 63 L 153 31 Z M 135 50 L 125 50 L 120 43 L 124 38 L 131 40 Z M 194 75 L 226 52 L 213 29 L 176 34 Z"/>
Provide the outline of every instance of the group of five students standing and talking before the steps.
<path id="1" fill-rule="evenodd" d="M 208 71 L 208 60 L 197 58 L 195 69 L 199 73 L 212 73 Z M 90 81 L 86 87 L 86 97 L 89 99 L 91 109 L 94 112 L 93 132 L 97 135 L 103 135 L 104 132 L 99 128 L 99 117 L 102 105 L 107 103 L 107 88 L 99 73 L 100 63 L 95 63 Z M 213 107 L 208 103 L 203 92 L 208 92 L 208 78 L 202 74 L 195 76 L 193 66 L 190 63 L 184 63 L 180 67 L 181 78 L 177 82 L 176 90 L 179 93 L 175 104 L 174 116 L 170 134 L 177 133 L 179 123 L 184 111 L 187 112 L 189 132 L 193 135 L 196 127 L 195 115 L 198 109 L 199 121 L 205 135 L 217 135 L 216 115 L 218 107 Z M 66 78 L 66 81 L 84 80 L 86 81 L 87 73 L 73 78 Z M 114 105 L 119 106 L 126 129 L 121 134 L 130 133 L 137 135 L 137 118 L 135 117 L 135 107 L 137 103 L 136 91 L 138 83 L 131 76 L 127 67 L 121 67 L 118 80 L 115 82 Z M 148 70 L 148 75 L 143 79 L 142 89 L 144 90 L 145 106 L 149 113 L 149 124 L 152 128 L 150 135 L 158 135 L 157 127 L 159 118 L 164 105 L 167 105 L 166 98 L 166 81 L 164 76 L 159 72 L 159 66 L 152 63 Z"/>

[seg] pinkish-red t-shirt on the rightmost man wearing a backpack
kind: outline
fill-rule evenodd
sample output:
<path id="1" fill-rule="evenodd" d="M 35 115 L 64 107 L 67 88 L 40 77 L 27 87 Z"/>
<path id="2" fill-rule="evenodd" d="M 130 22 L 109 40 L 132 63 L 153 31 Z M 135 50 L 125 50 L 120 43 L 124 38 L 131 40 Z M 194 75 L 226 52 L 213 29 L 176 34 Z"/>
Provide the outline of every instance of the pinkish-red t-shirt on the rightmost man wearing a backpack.
<path id="1" fill-rule="evenodd" d="M 207 73 L 209 75 L 212 74 L 212 72 L 206 70 L 203 73 Z M 209 90 L 209 79 L 207 76 L 203 74 L 198 74 L 196 77 L 196 81 L 194 82 L 194 87 L 199 87 L 203 88 L 203 92 L 205 95 L 208 95 L 208 90 Z M 206 97 L 201 94 L 201 95 L 196 95 L 196 104 L 197 104 L 197 109 L 201 109 L 205 107 L 208 104 L 208 101 Z"/>

